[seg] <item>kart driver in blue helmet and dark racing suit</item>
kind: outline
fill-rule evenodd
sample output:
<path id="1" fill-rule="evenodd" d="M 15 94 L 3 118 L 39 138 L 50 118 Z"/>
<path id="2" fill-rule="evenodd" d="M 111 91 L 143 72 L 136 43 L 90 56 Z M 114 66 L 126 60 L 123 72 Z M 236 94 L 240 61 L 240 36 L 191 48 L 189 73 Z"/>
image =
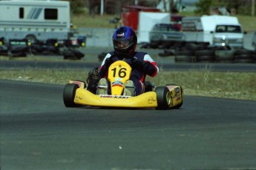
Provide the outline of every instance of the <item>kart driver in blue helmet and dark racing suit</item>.
<path id="1" fill-rule="evenodd" d="M 159 72 L 156 62 L 146 52 L 135 51 L 137 47 L 137 35 L 131 27 L 119 27 L 112 37 L 114 51 L 109 52 L 102 61 L 99 68 L 100 80 L 97 94 L 110 94 L 110 83 L 108 78 L 108 67 L 114 61 L 126 61 L 131 66 L 130 80 L 125 84 L 123 95 L 140 95 L 143 92 L 146 75 L 154 77 Z"/>

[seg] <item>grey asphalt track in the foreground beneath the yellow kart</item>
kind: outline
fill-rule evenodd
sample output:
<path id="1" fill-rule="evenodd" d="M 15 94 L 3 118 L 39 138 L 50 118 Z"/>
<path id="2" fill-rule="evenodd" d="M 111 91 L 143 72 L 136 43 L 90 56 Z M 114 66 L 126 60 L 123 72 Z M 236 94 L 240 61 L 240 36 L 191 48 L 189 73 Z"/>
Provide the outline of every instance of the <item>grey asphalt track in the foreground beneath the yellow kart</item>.
<path id="1" fill-rule="evenodd" d="M 0 81 L 1 169 L 256 169 L 256 104 L 66 108 L 64 86 Z"/>

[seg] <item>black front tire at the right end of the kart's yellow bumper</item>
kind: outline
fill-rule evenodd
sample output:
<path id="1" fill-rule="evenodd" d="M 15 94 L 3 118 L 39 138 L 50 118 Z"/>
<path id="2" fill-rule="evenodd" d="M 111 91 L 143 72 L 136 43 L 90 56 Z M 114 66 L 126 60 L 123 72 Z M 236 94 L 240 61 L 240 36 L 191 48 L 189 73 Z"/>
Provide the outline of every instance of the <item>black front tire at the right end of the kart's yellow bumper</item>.
<path id="1" fill-rule="evenodd" d="M 155 89 L 157 93 L 157 108 L 168 109 L 171 104 L 171 93 L 166 86 L 157 86 Z"/>

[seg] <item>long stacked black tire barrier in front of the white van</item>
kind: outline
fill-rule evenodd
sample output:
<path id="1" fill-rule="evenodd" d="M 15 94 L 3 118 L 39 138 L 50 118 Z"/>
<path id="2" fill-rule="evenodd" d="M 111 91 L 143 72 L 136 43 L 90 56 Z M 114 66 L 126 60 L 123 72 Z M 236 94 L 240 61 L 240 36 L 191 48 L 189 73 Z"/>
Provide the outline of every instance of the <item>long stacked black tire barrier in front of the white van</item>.
<path id="1" fill-rule="evenodd" d="M 187 63 L 256 63 L 256 51 L 234 49 L 233 47 L 214 47 L 207 42 L 168 41 L 143 44 L 141 48 L 163 49 L 160 57 L 174 56 L 174 61 Z"/>

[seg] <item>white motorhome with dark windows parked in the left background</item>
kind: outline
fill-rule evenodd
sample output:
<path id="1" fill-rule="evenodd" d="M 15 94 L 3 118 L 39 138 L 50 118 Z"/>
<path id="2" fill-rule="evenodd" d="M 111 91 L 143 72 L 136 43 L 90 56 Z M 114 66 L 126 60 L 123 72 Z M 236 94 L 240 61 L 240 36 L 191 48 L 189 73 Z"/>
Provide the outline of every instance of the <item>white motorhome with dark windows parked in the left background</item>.
<path id="1" fill-rule="evenodd" d="M 0 1 L 0 38 L 5 41 L 26 38 L 33 43 L 72 36 L 69 1 Z"/>

